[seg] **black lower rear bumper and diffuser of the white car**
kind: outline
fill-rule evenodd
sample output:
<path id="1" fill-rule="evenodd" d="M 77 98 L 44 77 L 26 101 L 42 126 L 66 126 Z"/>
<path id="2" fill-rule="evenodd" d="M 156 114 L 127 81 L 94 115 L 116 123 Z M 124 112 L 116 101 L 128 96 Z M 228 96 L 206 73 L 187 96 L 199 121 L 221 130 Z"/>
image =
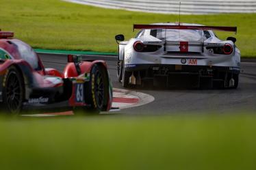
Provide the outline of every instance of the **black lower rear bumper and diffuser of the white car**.
<path id="1" fill-rule="evenodd" d="M 233 77 L 238 77 L 240 68 L 225 66 L 188 66 L 173 64 L 126 65 L 125 71 L 146 84 L 171 87 L 233 87 Z M 237 80 L 238 81 L 238 80 Z M 140 81 L 138 81 L 140 82 Z M 138 83 L 140 84 L 140 83 Z"/>

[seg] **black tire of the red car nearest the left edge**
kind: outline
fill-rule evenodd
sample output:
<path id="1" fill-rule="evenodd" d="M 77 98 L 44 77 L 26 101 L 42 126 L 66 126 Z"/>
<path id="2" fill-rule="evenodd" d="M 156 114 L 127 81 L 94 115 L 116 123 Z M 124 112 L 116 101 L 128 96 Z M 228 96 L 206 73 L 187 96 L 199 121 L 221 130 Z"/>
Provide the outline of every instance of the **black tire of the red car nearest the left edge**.
<path id="1" fill-rule="evenodd" d="M 3 104 L 5 112 L 18 114 L 23 109 L 25 88 L 21 72 L 14 66 L 8 68 L 3 77 Z"/>

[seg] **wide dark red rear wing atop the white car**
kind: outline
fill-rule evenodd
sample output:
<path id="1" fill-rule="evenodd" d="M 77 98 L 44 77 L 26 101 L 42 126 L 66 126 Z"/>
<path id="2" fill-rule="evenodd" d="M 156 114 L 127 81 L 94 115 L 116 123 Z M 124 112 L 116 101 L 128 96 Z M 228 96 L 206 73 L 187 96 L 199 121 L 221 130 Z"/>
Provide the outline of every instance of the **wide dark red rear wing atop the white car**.
<path id="1" fill-rule="evenodd" d="M 195 25 L 142 25 L 134 24 L 134 29 L 199 29 L 199 30 L 216 30 L 216 31 L 231 31 L 237 33 L 237 27 L 222 27 L 222 26 L 195 26 Z"/>

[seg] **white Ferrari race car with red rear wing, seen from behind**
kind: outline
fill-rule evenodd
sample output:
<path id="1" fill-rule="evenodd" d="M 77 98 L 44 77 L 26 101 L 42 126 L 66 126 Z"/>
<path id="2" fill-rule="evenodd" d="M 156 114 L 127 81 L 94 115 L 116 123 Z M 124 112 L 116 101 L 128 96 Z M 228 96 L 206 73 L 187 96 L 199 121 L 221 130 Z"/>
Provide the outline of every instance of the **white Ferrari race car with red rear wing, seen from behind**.
<path id="1" fill-rule="evenodd" d="M 236 27 L 156 23 L 133 25 L 134 29 L 141 30 L 129 41 L 124 41 L 122 34 L 115 37 L 117 76 L 123 87 L 149 81 L 154 86 L 238 87 L 240 50 L 236 39 L 222 41 L 214 33 L 236 33 Z"/>

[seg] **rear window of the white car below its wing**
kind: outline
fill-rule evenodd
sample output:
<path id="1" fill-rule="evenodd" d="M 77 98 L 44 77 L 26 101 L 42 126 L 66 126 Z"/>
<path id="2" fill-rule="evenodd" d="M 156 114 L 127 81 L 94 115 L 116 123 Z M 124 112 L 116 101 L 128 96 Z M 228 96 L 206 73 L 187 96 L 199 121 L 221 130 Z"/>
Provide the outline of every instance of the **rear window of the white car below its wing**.
<path id="1" fill-rule="evenodd" d="M 151 36 L 171 42 L 203 42 L 203 35 L 198 29 L 151 29 Z"/>

